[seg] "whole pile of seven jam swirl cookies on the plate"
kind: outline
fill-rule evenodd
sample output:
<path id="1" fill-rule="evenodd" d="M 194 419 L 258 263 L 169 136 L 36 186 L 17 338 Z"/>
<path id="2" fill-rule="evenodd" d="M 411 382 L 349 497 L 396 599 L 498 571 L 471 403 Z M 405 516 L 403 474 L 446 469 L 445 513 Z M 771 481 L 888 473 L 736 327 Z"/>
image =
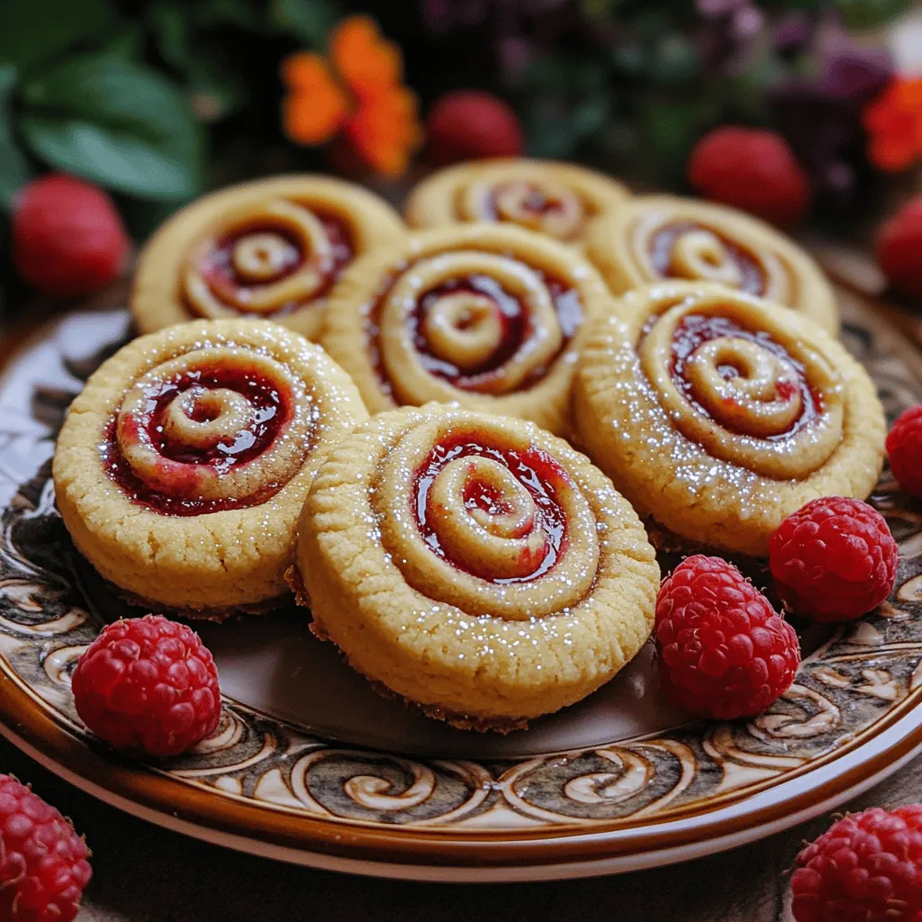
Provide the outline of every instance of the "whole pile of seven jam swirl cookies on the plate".
<path id="1" fill-rule="evenodd" d="M 763 557 L 881 472 L 880 401 L 807 254 L 566 164 L 436 173 L 406 222 L 315 176 L 210 195 L 149 242 L 132 310 L 54 457 L 78 550 L 187 617 L 293 591 L 459 727 L 609 681 L 652 630 L 655 543 Z"/>

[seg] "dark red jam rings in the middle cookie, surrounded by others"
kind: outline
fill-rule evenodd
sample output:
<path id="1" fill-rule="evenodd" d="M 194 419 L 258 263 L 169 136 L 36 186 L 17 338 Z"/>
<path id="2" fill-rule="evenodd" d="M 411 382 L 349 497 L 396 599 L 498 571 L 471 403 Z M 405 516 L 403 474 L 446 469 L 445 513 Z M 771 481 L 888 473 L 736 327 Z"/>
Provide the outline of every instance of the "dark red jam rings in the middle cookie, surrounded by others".
<path id="1" fill-rule="evenodd" d="M 560 278 L 551 278 L 544 275 L 539 270 L 538 276 L 547 285 L 551 298 L 554 302 L 554 309 L 557 313 L 557 321 L 561 325 L 561 349 L 554 356 L 557 356 L 566 349 L 570 340 L 576 335 L 583 323 L 583 305 L 580 301 L 579 292 Z M 388 290 L 390 286 L 388 286 Z M 374 361 L 375 370 L 378 372 L 378 378 L 385 391 L 389 393 L 390 384 L 387 380 L 387 372 L 384 368 L 380 349 L 377 346 L 378 334 L 380 332 L 379 317 L 381 305 L 387 297 L 388 290 L 384 290 L 375 302 L 370 312 L 367 329 L 368 342 L 372 351 L 372 360 Z M 429 342 L 422 333 L 422 320 L 426 312 L 438 299 L 449 293 L 458 291 L 470 291 L 474 294 L 486 295 L 496 304 L 500 319 L 502 322 L 502 344 L 490 357 L 488 361 L 483 362 L 478 368 L 462 370 L 450 361 L 445 361 L 439 356 L 433 355 Z M 514 354 L 522 347 L 526 339 L 531 335 L 531 324 L 528 317 L 526 305 L 522 303 L 514 294 L 502 288 L 502 285 L 490 276 L 466 276 L 464 278 L 452 278 L 437 288 L 431 289 L 423 294 L 416 302 L 415 309 L 410 313 L 408 318 L 410 332 L 413 337 L 414 347 L 420 356 L 420 363 L 427 372 L 437 378 L 442 378 L 452 386 L 463 391 L 473 391 L 481 393 L 490 393 L 497 379 L 502 377 L 502 366 L 509 361 Z M 550 364 L 550 363 L 549 363 Z M 532 384 L 536 384 L 548 372 L 549 365 L 542 365 L 534 369 L 526 378 L 521 386 L 525 390 Z"/>

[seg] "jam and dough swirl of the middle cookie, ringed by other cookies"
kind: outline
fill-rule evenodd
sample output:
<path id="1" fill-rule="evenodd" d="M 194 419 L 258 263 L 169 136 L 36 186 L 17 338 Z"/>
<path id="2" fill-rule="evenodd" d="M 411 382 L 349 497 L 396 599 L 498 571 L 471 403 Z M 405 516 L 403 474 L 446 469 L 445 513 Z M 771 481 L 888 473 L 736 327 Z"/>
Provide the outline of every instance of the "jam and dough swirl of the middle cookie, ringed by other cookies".
<path id="1" fill-rule="evenodd" d="M 565 282 L 512 256 L 469 250 L 405 268 L 376 313 L 380 371 L 404 403 L 526 389 L 583 321 Z"/>

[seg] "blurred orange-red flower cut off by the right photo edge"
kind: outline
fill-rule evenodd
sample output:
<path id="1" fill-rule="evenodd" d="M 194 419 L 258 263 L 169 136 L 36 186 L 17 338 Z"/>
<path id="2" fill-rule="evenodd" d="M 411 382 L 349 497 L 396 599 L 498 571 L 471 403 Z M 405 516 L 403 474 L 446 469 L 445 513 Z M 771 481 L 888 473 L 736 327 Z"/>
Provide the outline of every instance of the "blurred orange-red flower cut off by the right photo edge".
<path id="1" fill-rule="evenodd" d="M 881 170 L 905 170 L 922 158 L 922 79 L 894 77 L 864 112 L 868 156 Z"/>

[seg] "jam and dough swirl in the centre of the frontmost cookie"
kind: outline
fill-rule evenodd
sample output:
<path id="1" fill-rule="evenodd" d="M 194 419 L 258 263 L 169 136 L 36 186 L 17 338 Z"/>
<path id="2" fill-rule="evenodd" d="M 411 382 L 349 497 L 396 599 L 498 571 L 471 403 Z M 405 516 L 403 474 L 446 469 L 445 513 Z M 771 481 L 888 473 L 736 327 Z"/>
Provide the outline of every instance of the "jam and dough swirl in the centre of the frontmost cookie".
<path id="1" fill-rule="evenodd" d="M 468 420 L 424 424 L 386 459 L 385 545 L 412 585 L 472 613 L 525 619 L 575 605 L 598 560 L 585 496 L 523 436 L 526 424 Z"/>

